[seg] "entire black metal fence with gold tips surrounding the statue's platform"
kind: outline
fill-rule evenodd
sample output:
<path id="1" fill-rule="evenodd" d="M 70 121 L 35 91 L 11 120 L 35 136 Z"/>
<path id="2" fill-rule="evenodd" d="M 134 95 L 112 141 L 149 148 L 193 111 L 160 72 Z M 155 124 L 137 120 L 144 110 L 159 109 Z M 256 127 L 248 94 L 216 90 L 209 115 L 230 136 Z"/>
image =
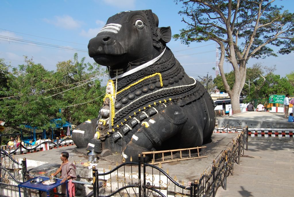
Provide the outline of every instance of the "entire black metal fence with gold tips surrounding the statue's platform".
<path id="1" fill-rule="evenodd" d="M 176 176 L 171 177 L 168 171 L 158 166 L 146 162 L 145 155 L 138 156 L 138 163 L 124 162 L 116 164 L 114 169 L 109 166 L 107 172 L 98 172 L 95 166 L 93 172 L 93 193 L 87 196 L 108 197 L 108 196 L 212 196 L 221 186 L 226 189 L 226 178 L 233 174 L 234 164 L 240 163 L 240 156 L 244 155 L 244 149 L 248 148 L 248 127 L 246 128 L 222 128 L 217 129 L 220 133 L 238 132 L 238 137 L 232 141 L 228 150 L 223 150 L 212 162 L 210 169 L 205 169 L 198 180 L 191 180 L 191 184 L 185 185 L 183 181 L 177 180 Z M 64 139 L 66 140 L 66 139 Z M 62 141 L 64 141 L 62 140 Z M 44 143 L 52 143 L 59 147 L 62 141 L 42 142 L 34 147 L 40 148 Z M 18 148 L 31 149 L 20 145 Z M 21 163 L 14 159 L 13 151 L 0 149 L 0 196 L 18 196 L 18 184 L 26 181 L 26 160 Z M 141 158 L 143 164 L 141 165 Z M 143 174 L 141 174 L 143 168 Z M 2 171 L 2 172 L 1 172 Z M 196 176 L 197 177 L 197 176 Z M 141 180 L 143 178 L 143 180 Z M 22 191 L 24 196 L 28 196 L 26 190 Z"/>

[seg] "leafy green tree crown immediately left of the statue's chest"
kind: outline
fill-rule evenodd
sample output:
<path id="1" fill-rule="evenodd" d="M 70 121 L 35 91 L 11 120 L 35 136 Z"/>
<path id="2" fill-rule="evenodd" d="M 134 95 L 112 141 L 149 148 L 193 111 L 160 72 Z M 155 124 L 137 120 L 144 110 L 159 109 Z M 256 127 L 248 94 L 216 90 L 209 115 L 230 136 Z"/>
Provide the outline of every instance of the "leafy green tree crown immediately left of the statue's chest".
<path id="1" fill-rule="evenodd" d="M 105 88 L 101 88 L 101 80 L 95 79 L 95 77 L 106 73 L 106 70 L 96 62 L 86 64 L 84 60 L 85 58 L 82 58 L 79 62 L 78 55 L 74 54 L 74 61 L 62 61 L 56 65 L 57 71 L 55 75 L 59 79 L 57 82 L 58 86 L 72 84 L 66 86 L 65 90 L 75 86 L 81 86 L 81 88 L 74 88 L 64 92 L 62 96 L 59 95 L 59 97 L 62 97 L 66 101 L 61 107 L 63 109 L 63 115 L 67 120 L 75 124 L 97 118 L 103 102 L 101 95 L 105 93 Z M 84 83 L 86 85 L 83 85 Z M 80 103 L 84 104 L 80 105 Z"/>

